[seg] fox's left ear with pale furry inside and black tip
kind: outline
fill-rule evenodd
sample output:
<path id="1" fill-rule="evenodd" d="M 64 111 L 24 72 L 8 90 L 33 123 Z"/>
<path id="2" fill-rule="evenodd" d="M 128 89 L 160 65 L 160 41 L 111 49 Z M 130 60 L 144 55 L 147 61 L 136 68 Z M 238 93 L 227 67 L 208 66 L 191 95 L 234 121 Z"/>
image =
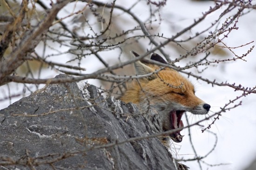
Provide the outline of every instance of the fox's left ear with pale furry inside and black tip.
<path id="1" fill-rule="evenodd" d="M 137 53 L 135 53 L 134 51 L 131 51 L 131 55 L 132 57 L 139 57 L 139 55 Z M 146 75 L 149 73 L 153 73 L 155 70 L 152 69 L 151 67 L 147 66 L 144 63 L 141 63 L 140 61 L 137 61 L 134 63 L 135 65 L 135 71 L 137 75 Z M 156 75 L 153 74 L 151 76 L 145 77 L 148 80 L 153 80 L 156 78 Z"/>

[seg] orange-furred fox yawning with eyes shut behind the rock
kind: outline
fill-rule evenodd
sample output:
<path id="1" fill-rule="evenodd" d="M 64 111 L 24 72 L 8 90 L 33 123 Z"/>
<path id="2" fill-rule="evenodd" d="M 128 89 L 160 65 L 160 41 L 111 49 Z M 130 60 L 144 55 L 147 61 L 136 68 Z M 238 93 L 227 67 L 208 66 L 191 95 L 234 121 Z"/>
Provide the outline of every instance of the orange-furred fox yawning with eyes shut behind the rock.
<path id="1" fill-rule="evenodd" d="M 134 51 L 131 54 L 139 56 Z M 167 64 L 158 54 L 153 54 L 150 59 Z M 128 83 L 121 101 L 137 104 L 155 132 L 184 127 L 181 120 L 184 112 L 209 112 L 210 105 L 195 96 L 194 86 L 187 78 L 168 67 L 156 72 L 160 68 L 162 66 L 145 60 L 135 62 L 137 75 L 155 74 Z M 181 142 L 183 138 L 180 132 L 169 136 L 175 142 Z"/>

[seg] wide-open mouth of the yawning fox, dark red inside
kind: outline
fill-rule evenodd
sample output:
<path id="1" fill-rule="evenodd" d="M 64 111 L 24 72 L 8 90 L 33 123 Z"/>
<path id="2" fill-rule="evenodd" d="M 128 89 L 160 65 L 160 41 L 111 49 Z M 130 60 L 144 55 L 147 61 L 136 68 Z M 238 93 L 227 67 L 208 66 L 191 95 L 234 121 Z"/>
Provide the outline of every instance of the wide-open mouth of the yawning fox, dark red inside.
<path id="1" fill-rule="evenodd" d="M 184 112 L 185 111 L 181 111 L 181 110 L 174 110 L 174 111 L 170 112 L 170 127 L 171 127 L 171 129 L 177 129 L 180 127 L 182 127 L 182 129 L 183 129 L 184 125 L 183 125 L 183 122 L 181 119 L 182 119 L 182 114 Z M 180 131 L 182 131 L 182 130 L 180 130 Z M 180 131 L 170 134 L 170 137 L 173 141 L 175 141 L 175 142 L 182 141 L 183 135 L 181 135 Z"/>

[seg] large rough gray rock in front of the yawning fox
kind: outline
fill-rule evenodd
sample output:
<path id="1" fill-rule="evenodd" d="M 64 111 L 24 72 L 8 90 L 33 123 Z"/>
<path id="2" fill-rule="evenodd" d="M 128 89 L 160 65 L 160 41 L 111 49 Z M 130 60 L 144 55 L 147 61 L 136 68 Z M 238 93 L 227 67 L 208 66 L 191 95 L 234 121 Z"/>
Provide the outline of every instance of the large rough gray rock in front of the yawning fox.
<path id="1" fill-rule="evenodd" d="M 135 105 L 87 90 L 47 85 L 0 110 L 0 170 L 175 170 L 156 138 L 113 145 L 150 134 L 148 123 Z"/>

